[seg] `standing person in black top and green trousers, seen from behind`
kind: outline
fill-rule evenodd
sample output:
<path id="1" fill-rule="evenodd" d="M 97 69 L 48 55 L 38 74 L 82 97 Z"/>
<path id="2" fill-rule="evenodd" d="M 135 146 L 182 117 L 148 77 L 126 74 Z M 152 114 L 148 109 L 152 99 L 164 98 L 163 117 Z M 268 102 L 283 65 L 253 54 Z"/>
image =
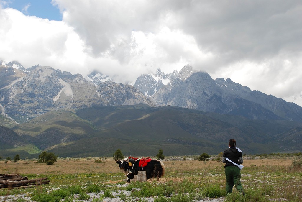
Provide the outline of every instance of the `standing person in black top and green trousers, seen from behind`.
<path id="1" fill-rule="evenodd" d="M 223 152 L 222 162 L 226 165 L 224 166 L 224 171 L 226 174 L 226 193 L 232 193 L 232 188 L 235 185 L 236 189 L 240 191 L 243 196 L 243 187 L 240 182 L 241 173 L 240 169 L 243 168 L 242 164 L 242 152 L 236 146 L 236 140 L 230 139 L 229 149 Z"/>

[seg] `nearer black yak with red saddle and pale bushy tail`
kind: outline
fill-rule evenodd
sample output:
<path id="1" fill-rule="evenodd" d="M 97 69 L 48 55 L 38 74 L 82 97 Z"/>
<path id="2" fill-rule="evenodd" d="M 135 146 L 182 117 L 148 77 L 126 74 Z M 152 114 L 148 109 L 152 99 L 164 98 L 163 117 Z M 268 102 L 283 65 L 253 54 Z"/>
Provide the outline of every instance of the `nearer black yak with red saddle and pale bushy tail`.
<path id="1" fill-rule="evenodd" d="M 143 161 L 143 159 L 137 159 L 134 162 L 132 170 L 128 172 L 127 182 L 130 182 L 130 179 L 133 179 L 134 175 L 137 175 L 138 171 L 146 171 L 147 180 L 153 178 L 157 178 L 157 180 L 159 180 L 159 178 L 165 175 L 165 165 L 161 160 L 151 159 L 144 167 L 139 166 L 140 161 Z"/>

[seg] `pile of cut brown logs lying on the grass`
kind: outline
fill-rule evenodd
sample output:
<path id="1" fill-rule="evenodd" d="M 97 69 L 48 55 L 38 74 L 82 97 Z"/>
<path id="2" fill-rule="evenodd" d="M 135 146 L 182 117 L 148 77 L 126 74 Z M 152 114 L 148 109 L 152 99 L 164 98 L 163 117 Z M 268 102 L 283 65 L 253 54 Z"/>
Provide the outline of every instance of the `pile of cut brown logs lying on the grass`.
<path id="1" fill-rule="evenodd" d="M 49 184 L 50 180 L 46 178 L 37 178 L 29 180 L 19 174 L 0 174 L 0 188 L 30 188 Z"/>

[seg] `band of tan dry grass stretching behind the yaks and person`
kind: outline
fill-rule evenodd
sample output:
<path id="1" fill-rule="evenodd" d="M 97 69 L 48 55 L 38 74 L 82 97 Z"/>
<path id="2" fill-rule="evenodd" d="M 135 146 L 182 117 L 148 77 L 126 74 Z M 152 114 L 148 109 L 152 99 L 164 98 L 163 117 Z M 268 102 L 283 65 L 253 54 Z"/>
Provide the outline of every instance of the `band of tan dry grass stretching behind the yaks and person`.
<path id="1" fill-rule="evenodd" d="M 74 174 L 74 173 L 116 173 L 120 172 L 117 163 L 113 159 L 103 160 L 104 163 L 95 163 L 95 159 L 59 159 L 54 165 L 35 163 L 34 160 L 20 160 L 17 163 L 0 161 L 0 173 L 21 173 L 21 174 Z M 25 164 L 27 163 L 27 164 Z M 166 173 L 196 172 L 204 169 L 217 168 L 223 170 L 223 163 L 217 161 L 164 161 Z M 292 164 L 290 159 L 255 159 L 244 160 L 243 165 L 249 166 L 282 166 Z"/>

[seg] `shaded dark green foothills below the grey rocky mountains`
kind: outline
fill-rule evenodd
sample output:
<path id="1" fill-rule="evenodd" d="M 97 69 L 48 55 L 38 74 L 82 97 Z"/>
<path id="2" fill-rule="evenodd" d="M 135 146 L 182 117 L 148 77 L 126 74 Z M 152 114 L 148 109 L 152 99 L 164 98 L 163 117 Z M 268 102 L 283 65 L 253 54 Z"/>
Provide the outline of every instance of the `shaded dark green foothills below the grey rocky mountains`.
<path id="1" fill-rule="evenodd" d="M 246 154 L 302 150 L 297 141 L 302 123 L 249 120 L 173 106 L 48 112 L 12 129 L 37 149 L 59 157 L 111 156 L 116 149 L 133 156 L 156 156 L 159 149 L 169 156 L 218 154 L 230 138 Z"/>

